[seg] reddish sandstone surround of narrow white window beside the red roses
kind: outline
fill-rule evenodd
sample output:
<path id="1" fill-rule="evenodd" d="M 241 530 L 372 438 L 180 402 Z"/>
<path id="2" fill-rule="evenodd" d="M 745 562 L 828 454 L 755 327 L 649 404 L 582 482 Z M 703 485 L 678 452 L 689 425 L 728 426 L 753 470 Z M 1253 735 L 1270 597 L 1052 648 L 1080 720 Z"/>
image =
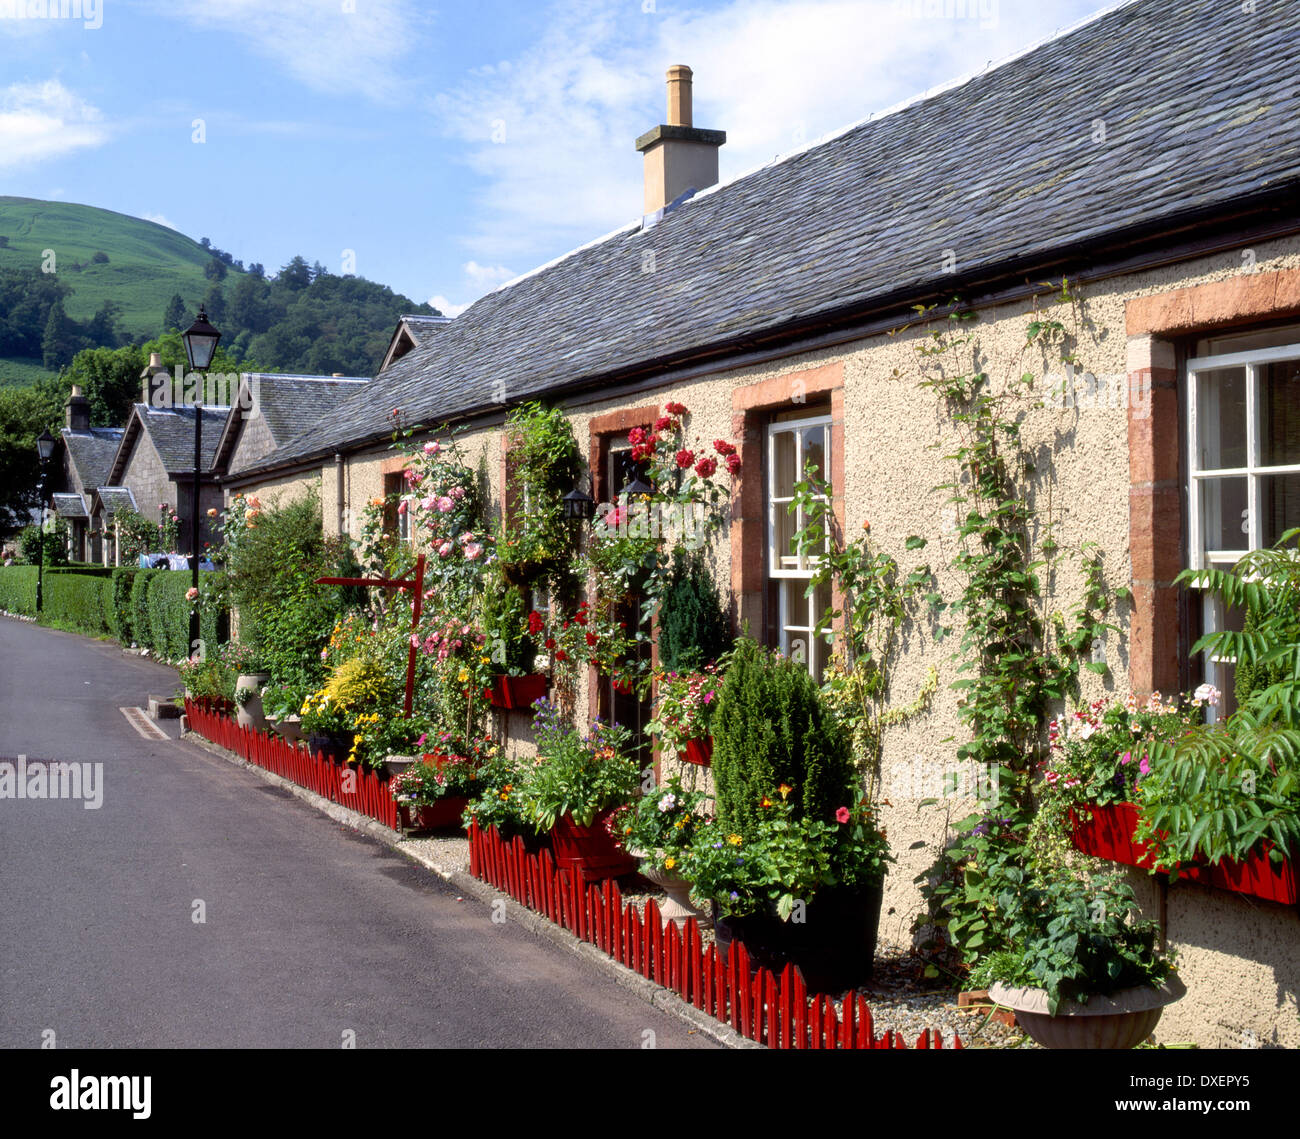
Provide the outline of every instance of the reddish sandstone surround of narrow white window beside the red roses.
<path id="1" fill-rule="evenodd" d="M 819 407 L 827 403 L 828 415 Z M 816 424 L 807 420 L 815 420 Z M 798 426 L 801 421 L 802 428 Z M 751 636 L 772 646 L 786 648 L 786 642 L 798 637 L 794 622 L 783 619 L 781 592 L 793 592 L 802 599 L 809 572 L 807 567 L 789 563 L 783 567 L 781 559 L 790 556 L 790 551 L 774 555 L 770 549 L 776 507 L 784 510 L 780 502 L 774 501 L 774 486 L 781 489 L 772 478 L 776 471 L 774 456 L 784 447 L 785 458 L 789 458 L 789 443 L 783 441 L 784 429 L 805 430 L 818 425 L 824 430 L 822 454 L 829 465 L 832 508 L 842 532 L 844 363 L 836 360 L 816 368 L 788 372 L 732 390 L 732 434 L 740 443 L 742 463 L 740 486 L 732 499 L 731 527 L 731 584 L 736 628 L 748 624 Z M 776 494 L 775 498 L 780 499 L 783 494 Z M 774 564 L 775 575 L 771 572 Z M 802 581 L 794 583 L 797 576 L 802 576 Z M 832 593 L 831 603 L 838 605 L 838 601 Z M 790 616 L 788 606 L 785 616 Z M 814 664 L 819 654 L 811 653 L 806 659 Z"/>

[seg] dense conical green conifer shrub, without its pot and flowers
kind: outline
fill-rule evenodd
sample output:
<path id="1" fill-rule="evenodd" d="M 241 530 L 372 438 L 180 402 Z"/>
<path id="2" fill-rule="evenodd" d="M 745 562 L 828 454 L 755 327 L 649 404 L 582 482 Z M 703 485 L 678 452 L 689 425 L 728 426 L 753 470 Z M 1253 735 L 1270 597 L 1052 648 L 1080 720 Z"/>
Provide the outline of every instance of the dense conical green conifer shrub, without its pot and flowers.
<path id="1" fill-rule="evenodd" d="M 807 668 L 754 641 L 738 642 L 714 715 L 718 820 L 740 835 L 758 832 L 763 797 L 792 788 L 794 819 L 831 819 L 857 802 L 848 736 L 822 705 Z"/>

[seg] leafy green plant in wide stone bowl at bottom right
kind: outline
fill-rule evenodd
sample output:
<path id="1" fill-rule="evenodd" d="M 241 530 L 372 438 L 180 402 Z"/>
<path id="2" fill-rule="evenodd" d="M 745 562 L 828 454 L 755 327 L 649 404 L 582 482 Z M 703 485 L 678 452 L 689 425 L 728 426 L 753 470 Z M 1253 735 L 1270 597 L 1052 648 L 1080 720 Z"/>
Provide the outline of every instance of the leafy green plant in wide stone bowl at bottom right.
<path id="1" fill-rule="evenodd" d="M 1032 879 L 1006 871 L 997 906 L 1009 947 L 980 960 L 971 983 L 1015 1009 L 1044 1048 L 1134 1048 L 1186 987 L 1157 945 L 1154 922 L 1136 919 L 1118 874 Z"/>

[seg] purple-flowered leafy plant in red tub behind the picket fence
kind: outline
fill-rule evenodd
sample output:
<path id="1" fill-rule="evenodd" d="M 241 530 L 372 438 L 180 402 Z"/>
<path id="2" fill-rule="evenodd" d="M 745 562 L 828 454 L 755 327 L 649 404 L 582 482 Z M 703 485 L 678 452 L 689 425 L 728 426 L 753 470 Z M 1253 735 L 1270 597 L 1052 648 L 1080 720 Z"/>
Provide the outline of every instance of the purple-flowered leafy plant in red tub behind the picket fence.
<path id="1" fill-rule="evenodd" d="M 636 869 L 604 826 L 629 802 L 641 772 L 629 754 L 632 733 L 597 720 L 588 735 L 560 719 L 547 701 L 533 718 L 537 759 L 526 770 L 524 809 L 538 831 L 550 831 L 556 863 L 582 880 L 616 878 Z"/>

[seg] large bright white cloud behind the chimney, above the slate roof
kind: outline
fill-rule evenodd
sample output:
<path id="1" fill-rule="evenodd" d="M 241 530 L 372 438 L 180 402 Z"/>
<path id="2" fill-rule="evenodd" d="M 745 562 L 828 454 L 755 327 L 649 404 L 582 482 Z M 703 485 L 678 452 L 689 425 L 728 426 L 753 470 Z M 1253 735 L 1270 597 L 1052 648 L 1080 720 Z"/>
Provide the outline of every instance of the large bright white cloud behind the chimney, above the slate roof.
<path id="1" fill-rule="evenodd" d="M 671 64 L 694 70 L 696 125 L 727 131 L 725 181 L 1002 59 L 1096 3 L 997 20 L 998 0 L 971 0 L 976 18 L 945 20 L 896 0 L 724 0 L 680 13 L 558 0 L 519 59 L 467 69 L 430 100 L 482 181 L 465 244 L 482 259 L 532 261 L 636 217 L 633 140 L 662 122 Z"/>

